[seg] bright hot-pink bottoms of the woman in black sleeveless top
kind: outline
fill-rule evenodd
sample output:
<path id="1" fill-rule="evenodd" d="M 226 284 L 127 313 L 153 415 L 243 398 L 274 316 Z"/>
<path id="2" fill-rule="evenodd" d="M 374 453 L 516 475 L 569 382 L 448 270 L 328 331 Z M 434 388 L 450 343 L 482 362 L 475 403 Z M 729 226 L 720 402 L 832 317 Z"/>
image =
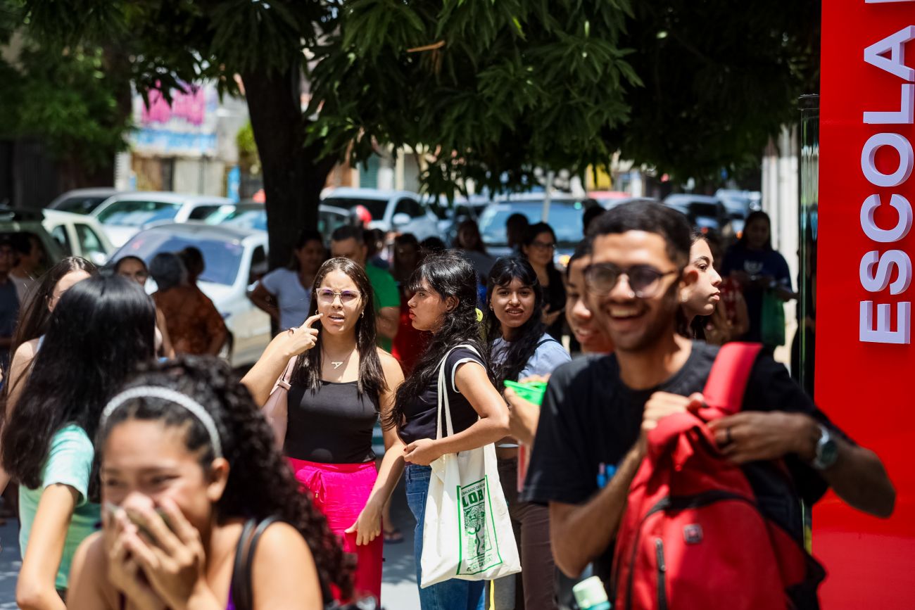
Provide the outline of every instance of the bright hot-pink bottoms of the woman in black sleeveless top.
<path id="1" fill-rule="evenodd" d="M 356 555 L 354 591 L 358 599 L 372 595 L 381 605 L 382 551 L 384 537 L 357 546 L 356 533 L 346 533 L 371 495 L 378 478 L 374 462 L 365 464 L 319 464 L 288 457 L 296 479 L 307 488 L 315 507 L 328 518 L 330 530 L 337 534 L 343 551 Z"/>

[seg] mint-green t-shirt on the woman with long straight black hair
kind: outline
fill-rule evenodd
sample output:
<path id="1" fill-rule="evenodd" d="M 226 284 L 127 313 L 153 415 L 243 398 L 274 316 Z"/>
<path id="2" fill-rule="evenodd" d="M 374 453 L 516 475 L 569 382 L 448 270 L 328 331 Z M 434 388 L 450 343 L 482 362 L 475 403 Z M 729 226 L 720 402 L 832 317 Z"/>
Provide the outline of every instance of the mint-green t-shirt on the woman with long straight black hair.
<path id="1" fill-rule="evenodd" d="M 58 589 L 67 588 L 67 579 L 70 578 L 70 562 L 73 553 L 80 546 L 102 520 L 102 511 L 98 504 L 90 502 L 89 480 L 92 476 L 92 457 L 95 450 L 89 436 L 78 425 L 70 424 L 61 428 L 51 438 L 51 447 L 48 452 L 48 461 L 41 471 L 41 487 L 29 489 L 19 486 L 19 519 L 22 527 L 19 530 L 19 550 L 26 556 L 28 536 L 35 522 L 35 513 L 38 512 L 38 501 L 45 487 L 54 484 L 68 485 L 76 489 L 79 498 L 76 509 L 70 519 L 70 528 L 67 529 L 67 540 L 64 543 L 63 555 L 60 557 L 55 586 Z"/>

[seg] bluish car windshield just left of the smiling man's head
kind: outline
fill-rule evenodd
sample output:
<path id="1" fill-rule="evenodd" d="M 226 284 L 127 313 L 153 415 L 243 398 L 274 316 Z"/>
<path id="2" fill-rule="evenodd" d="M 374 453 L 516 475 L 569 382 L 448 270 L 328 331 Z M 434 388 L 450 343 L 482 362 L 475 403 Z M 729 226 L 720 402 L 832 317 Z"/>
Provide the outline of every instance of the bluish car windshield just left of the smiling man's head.
<path id="1" fill-rule="evenodd" d="M 497 203 L 488 207 L 479 217 L 479 232 L 488 246 L 504 246 L 508 243 L 505 220 L 512 214 L 521 213 L 533 224 L 540 222 L 544 210 L 543 201 Z M 550 205 L 549 225 L 556 233 L 558 245 L 573 245 L 581 241 L 584 232 L 581 202 L 553 201 Z"/>

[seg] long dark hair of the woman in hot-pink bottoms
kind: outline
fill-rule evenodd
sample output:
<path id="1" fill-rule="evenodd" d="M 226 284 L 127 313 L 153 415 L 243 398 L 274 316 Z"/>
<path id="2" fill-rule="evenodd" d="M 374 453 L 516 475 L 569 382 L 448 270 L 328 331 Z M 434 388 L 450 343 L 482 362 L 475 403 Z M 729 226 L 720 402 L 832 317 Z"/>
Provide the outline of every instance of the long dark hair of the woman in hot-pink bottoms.
<path id="1" fill-rule="evenodd" d="M 374 401 L 376 408 L 381 403 L 382 391 L 387 390 L 382 372 L 382 360 L 378 358 L 378 348 L 375 347 L 375 306 L 374 294 L 371 290 L 369 276 L 357 262 L 350 259 L 337 257 L 321 265 L 315 274 L 315 282 L 311 286 L 311 305 L 308 306 L 308 316 L 318 313 L 318 288 L 328 273 L 339 271 L 346 273 L 347 277 L 356 284 L 362 299 L 362 315 L 356 321 L 356 348 L 359 350 L 359 380 L 357 388 L 359 393 L 368 394 Z M 313 325 L 321 328 L 321 321 Z M 311 391 L 317 391 L 321 385 L 321 333 L 315 347 L 298 357 L 296 369 L 293 372 L 293 383 L 303 385 Z"/>

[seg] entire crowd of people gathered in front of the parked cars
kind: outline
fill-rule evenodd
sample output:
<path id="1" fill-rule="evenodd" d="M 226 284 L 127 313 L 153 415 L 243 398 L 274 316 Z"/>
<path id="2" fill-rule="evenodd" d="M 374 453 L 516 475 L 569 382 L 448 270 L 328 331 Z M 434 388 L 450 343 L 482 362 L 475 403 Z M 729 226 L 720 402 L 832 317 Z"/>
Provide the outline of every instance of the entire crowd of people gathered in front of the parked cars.
<path id="1" fill-rule="evenodd" d="M 472 220 L 451 250 L 409 234 L 385 247 L 350 226 L 325 244 L 305 230 L 289 265 L 250 294 L 280 332 L 241 380 L 214 358 L 226 330 L 196 286 L 199 251 L 148 266 L 130 256 L 101 270 L 76 257 L 53 265 L 21 312 L 16 300 L 0 343 L 14 354 L 0 484 L 18 489 L 18 605 L 383 602 L 384 543 L 402 540 L 388 510 L 401 477 L 421 583 L 424 530 L 450 519 L 426 514 L 436 461 L 490 444 L 521 573 L 421 587 L 421 607 L 570 607 L 568 587 L 589 572 L 612 598 L 647 438 L 706 406 L 717 346 L 741 338 L 764 346 L 742 409 L 707 425 L 760 513 L 801 545 L 801 500 L 827 487 L 855 508 L 892 511 L 877 455 L 772 359 L 784 323 L 779 335 L 771 303 L 783 316 L 794 294 L 764 213 L 724 255 L 726 244 L 661 204 L 587 214 L 564 271 L 554 230 L 524 217 L 509 219 L 515 251 L 502 258 Z M 0 291 L 16 264 L 0 243 Z M 530 380 L 546 383 L 542 406 L 506 389 Z M 282 422 L 262 412 L 277 391 Z M 775 462 L 784 485 L 767 476 Z M 786 595 L 817 607 L 815 583 Z"/>

